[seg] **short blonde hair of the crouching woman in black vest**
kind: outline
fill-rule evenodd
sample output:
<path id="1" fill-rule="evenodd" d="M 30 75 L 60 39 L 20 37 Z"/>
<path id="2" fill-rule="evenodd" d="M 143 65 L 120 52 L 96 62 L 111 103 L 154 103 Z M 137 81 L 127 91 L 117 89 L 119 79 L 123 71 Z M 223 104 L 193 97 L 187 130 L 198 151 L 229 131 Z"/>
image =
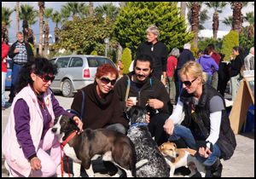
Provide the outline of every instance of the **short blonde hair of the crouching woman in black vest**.
<path id="1" fill-rule="evenodd" d="M 182 75 L 192 76 L 194 78 L 201 78 L 202 84 L 207 82 L 207 73 L 203 72 L 199 63 L 195 61 L 186 62 L 179 71 L 179 77 Z"/>

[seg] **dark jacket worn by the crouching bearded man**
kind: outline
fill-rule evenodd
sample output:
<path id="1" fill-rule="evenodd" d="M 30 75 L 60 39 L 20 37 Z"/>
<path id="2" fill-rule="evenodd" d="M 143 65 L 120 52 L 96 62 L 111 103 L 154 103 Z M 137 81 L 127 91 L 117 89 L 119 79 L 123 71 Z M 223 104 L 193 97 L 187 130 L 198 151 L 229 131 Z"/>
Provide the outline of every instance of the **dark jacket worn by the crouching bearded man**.
<path id="1" fill-rule="evenodd" d="M 125 112 L 125 93 L 128 84 L 128 78 L 131 80 L 131 75 L 133 72 L 128 73 L 123 78 L 120 78 L 119 81 L 114 85 L 114 92 L 118 95 L 120 106 Z M 150 84 L 151 78 L 151 84 Z M 170 97 L 167 93 L 167 90 L 155 77 L 148 78 L 148 81 L 143 85 L 142 89 L 137 92 L 137 90 L 130 88 L 129 96 L 137 96 L 138 105 L 141 107 L 145 107 L 149 98 L 155 98 L 164 102 L 164 107 L 159 109 L 160 113 L 172 114 L 172 103 L 170 101 Z"/>

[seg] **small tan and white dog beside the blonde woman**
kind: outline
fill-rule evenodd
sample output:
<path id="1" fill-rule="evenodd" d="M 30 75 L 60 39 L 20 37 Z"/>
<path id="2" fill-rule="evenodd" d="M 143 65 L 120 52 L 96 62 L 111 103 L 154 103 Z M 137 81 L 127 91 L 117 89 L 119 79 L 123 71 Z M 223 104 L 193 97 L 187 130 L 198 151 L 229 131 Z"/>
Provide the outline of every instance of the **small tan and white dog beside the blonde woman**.
<path id="1" fill-rule="evenodd" d="M 200 172 L 202 177 L 205 176 L 205 167 L 195 158 L 195 150 L 190 148 L 177 148 L 176 144 L 170 141 L 160 145 L 159 149 L 165 156 L 166 163 L 170 165 L 170 177 L 172 177 L 174 171 L 181 166 L 189 167 L 191 171 L 189 176 L 195 175 L 195 168 Z"/>

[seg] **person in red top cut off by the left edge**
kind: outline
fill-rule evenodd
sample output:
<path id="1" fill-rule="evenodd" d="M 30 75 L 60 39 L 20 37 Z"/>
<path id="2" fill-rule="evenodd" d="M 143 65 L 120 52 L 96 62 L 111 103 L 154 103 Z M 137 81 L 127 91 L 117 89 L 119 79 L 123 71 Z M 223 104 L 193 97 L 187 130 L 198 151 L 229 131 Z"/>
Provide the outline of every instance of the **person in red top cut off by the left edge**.
<path id="1" fill-rule="evenodd" d="M 5 42 L 5 34 L 2 32 L 2 110 L 5 110 L 5 78 L 7 73 L 7 55 L 9 45 Z"/>

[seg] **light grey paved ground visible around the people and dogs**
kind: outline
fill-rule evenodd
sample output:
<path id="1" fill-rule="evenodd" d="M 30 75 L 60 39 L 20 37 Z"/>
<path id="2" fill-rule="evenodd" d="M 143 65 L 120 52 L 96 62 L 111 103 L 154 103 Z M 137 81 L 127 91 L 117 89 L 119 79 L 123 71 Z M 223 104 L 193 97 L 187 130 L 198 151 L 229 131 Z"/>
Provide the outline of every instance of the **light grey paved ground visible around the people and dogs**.
<path id="1" fill-rule="evenodd" d="M 7 96 L 9 91 L 7 91 Z M 229 98 L 230 96 L 228 96 Z M 68 109 L 73 102 L 73 98 L 66 98 L 61 95 L 56 95 L 57 100 L 61 106 Z M 8 99 L 7 99 L 8 100 Z M 2 111 L 2 136 L 5 126 L 8 121 L 10 107 Z M 233 157 L 230 160 L 222 161 L 224 165 L 223 177 L 253 177 L 254 176 L 254 131 L 250 133 L 243 133 L 236 135 L 237 147 Z M 7 177 L 8 172 L 3 166 L 3 154 L 2 154 L 2 177 Z M 97 165 L 97 169 L 101 170 L 101 164 Z M 108 177 L 108 175 L 99 174 L 98 176 Z M 176 176 L 182 177 L 177 174 Z"/>

